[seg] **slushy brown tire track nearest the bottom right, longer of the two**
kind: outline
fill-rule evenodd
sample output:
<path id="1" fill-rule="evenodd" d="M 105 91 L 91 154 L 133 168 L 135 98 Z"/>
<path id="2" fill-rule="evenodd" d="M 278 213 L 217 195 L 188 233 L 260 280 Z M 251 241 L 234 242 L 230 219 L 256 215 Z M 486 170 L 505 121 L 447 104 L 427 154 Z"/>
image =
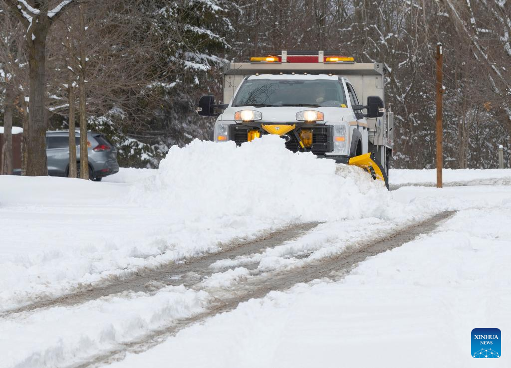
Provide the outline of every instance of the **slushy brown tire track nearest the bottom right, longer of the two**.
<path id="1" fill-rule="evenodd" d="M 367 257 L 400 247 L 421 234 L 435 230 L 441 222 L 448 219 L 454 213 L 455 211 L 438 213 L 429 219 L 401 229 L 381 240 L 367 243 L 364 246 L 344 251 L 329 258 L 315 260 L 303 267 L 249 279 L 245 284 L 239 285 L 233 292 L 225 294 L 224 298 L 219 297 L 217 302 L 206 312 L 183 320 L 173 321 L 167 328 L 152 331 L 143 338 L 125 342 L 116 350 L 98 355 L 86 362 L 72 364 L 69 368 L 96 367 L 113 361 L 123 360 L 127 352 L 141 353 L 146 351 L 184 328 L 200 323 L 216 314 L 231 311 L 240 303 L 249 299 L 262 298 L 273 290 L 287 290 L 297 283 L 310 282 L 315 279 L 338 279 L 343 277 Z"/>

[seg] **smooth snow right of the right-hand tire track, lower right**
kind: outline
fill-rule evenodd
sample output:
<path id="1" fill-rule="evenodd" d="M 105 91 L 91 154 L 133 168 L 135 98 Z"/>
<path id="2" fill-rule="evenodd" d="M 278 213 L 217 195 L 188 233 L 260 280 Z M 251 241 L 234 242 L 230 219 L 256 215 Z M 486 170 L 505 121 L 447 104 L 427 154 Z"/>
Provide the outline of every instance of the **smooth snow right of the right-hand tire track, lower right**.
<path id="1" fill-rule="evenodd" d="M 402 201 L 411 192 L 414 201 L 438 193 L 406 189 L 403 197 L 398 191 Z M 169 356 L 194 367 L 479 366 L 470 356 L 471 330 L 511 329 L 511 191 L 449 188 L 437 200 L 448 198 L 467 209 L 339 282 L 271 292 L 110 366 L 164 366 Z M 502 350 L 510 348 L 502 340 Z M 509 362 L 502 353 L 487 364 Z"/>

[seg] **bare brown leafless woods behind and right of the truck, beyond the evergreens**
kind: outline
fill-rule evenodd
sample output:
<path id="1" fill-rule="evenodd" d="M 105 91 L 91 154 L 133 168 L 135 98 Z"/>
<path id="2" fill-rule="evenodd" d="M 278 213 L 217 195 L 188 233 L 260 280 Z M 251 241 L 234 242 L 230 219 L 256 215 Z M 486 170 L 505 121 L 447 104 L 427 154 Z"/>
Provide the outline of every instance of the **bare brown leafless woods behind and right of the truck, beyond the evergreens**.
<path id="1" fill-rule="evenodd" d="M 394 167 L 434 167 L 438 41 L 446 167 L 495 167 L 496 146 L 511 149 L 511 1 L 241 0 L 238 6 L 237 60 L 265 50 L 333 49 L 358 62 L 385 63 Z"/>

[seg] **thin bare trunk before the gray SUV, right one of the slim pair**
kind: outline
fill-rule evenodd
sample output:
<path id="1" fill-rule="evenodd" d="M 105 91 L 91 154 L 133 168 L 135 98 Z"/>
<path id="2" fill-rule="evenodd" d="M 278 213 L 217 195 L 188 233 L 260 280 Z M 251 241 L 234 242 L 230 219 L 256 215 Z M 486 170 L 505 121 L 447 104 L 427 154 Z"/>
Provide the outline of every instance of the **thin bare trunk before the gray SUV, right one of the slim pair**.
<path id="1" fill-rule="evenodd" d="M 85 21 L 83 16 L 83 5 L 80 4 L 80 178 L 89 179 L 88 145 L 87 145 L 87 111 L 85 92 Z"/>

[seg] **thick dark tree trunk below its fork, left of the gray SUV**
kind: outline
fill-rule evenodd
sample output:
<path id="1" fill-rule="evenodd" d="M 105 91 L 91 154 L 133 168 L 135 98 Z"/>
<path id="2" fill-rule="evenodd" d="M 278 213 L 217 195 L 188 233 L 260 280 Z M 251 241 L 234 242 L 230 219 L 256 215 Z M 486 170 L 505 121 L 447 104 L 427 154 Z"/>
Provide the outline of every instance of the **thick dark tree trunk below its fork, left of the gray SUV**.
<path id="1" fill-rule="evenodd" d="M 27 175 L 47 176 L 48 159 L 46 156 L 47 114 L 44 100 L 46 96 L 46 36 L 48 25 L 33 24 L 34 39 L 28 47 L 29 59 L 29 140 L 27 146 Z"/>

